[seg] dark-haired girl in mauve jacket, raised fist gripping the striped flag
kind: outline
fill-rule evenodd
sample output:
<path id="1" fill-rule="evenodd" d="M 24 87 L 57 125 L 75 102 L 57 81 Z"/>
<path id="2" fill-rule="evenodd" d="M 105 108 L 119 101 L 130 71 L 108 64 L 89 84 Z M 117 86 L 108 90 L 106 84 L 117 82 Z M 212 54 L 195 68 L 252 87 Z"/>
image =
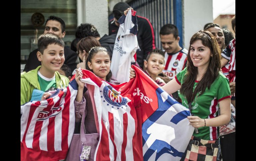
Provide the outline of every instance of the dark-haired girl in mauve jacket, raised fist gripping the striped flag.
<path id="1" fill-rule="evenodd" d="M 78 45 L 77 45 L 77 48 L 79 48 Z M 86 49 L 84 48 L 83 51 L 84 50 Z M 119 84 L 114 79 L 111 79 L 112 73 L 110 71 L 110 63 L 111 63 L 110 54 L 105 47 L 94 46 L 88 51 L 88 57 L 86 58 L 86 69 L 91 71 L 97 77 L 101 78 L 106 82 L 110 82 L 112 84 Z M 84 128 L 85 134 L 96 136 L 96 137 L 92 137 L 92 139 L 88 141 L 89 144 L 91 143 L 91 145 L 97 145 L 99 141 L 99 131 L 97 130 L 97 127 L 96 127 L 98 118 L 96 118 L 95 120 L 96 106 L 93 103 L 94 99 L 91 98 L 89 91 L 84 90 L 84 87 L 85 86 L 87 87 L 87 85 L 80 80 L 82 76 L 83 76 L 83 73 L 81 69 L 76 69 L 75 80 L 77 82 L 78 89 L 77 89 L 76 98 L 74 100 L 74 107 L 75 107 L 75 114 L 76 114 L 74 134 L 79 134 L 81 130 L 80 128 Z M 82 117 L 84 117 L 84 127 L 81 127 Z M 71 141 L 71 144 L 72 144 L 72 141 Z M 80 150 L 81 147 L 74 147 L 71 150 L 69 149 L 68 157 L 74 156 L 77 153 L 76 149 Z M 91 154 L 89 155 L 89 158 L 90 158 L 89 160 L 93 160 L 95 150 L 96 149 L 90 150 Z M 78 157 L 79 156 L 76 156 L 76 158 L 72 158 L 72 160 L 77 160 Z M 71 159 L 68 158 L 68 160 L 71 160 Z"/>

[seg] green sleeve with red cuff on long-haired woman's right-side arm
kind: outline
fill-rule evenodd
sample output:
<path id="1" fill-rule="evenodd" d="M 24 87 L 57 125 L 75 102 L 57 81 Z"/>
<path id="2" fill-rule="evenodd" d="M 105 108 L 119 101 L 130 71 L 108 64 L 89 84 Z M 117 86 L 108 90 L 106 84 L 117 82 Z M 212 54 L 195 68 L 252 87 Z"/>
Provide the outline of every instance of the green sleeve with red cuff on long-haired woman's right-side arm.
<path id="1" fill-rule="evenodd" d="M 228 79 L 223 78 L 223 80 L 219 83 L 217 99 L 218 101 L 221 101 L 226 98 L 231 98 L 231 92 L 229 88 Z"/>

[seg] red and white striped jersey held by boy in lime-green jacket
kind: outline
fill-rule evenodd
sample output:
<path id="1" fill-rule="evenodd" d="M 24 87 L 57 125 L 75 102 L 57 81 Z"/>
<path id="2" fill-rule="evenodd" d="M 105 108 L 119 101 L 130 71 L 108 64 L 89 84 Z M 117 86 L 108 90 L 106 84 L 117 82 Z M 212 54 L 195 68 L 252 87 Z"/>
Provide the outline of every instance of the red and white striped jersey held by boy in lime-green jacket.
<path id="1" fill-rule="evenodd" d="M 21 106 L 21 161 L 65 159 L 75 123 L 77 86 L 73 85 L 70 82 L 66 89 L 45 101 Z"/>

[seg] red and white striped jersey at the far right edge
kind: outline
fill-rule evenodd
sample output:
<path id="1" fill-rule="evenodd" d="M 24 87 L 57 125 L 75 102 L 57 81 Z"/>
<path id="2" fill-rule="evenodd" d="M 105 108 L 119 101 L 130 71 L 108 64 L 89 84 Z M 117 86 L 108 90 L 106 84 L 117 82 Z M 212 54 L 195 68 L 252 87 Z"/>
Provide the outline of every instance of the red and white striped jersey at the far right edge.
<path id="1" fill-rule="evenodd" d="M 225 59 L 228 59 L 229 66 L 228 71 L 236 70 L 236 60 L 235 60 L 235 39 L 231 40 L 228 44 L 228 46 L 223 50 L 221 53 L 221 56 L 223 56 Z"/>

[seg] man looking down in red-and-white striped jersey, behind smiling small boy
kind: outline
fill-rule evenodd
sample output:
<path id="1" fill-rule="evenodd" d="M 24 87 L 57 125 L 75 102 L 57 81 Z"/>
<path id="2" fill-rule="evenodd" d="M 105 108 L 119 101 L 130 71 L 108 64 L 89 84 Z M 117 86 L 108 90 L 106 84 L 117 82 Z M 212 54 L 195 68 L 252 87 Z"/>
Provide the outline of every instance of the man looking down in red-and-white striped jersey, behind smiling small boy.
<path id="1" fill-rule="evenodd" d="M 165 73 L 170 80 L 176 74 L 184 69 L 187 62 L 188 50 L 179 45 L 180 37 L 178 28 L 173 24 L 166 24 L 160 29 L 160 39 L 163 49 L 165 50 Z M 160 77 L 162 78 L 162 77 Z M 164 81 L 168 83 L 170 80 L 165 78 Z M 178 92 L 172 94 L 173 98 L 180 102 Z"/>

